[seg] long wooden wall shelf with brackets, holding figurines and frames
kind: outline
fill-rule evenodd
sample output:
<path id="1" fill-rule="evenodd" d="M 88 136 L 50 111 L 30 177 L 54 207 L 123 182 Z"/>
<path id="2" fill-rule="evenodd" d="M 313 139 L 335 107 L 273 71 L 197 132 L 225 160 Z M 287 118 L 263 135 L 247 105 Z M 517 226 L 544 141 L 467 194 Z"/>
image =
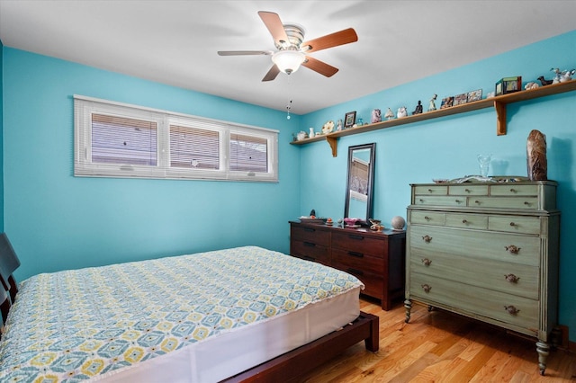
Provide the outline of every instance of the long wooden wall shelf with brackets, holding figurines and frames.
<path id="1" fill-rule="evenodd" d="M 439 117 L 451 116 L 453 114 L 465 113 L 467 111 L 477 111 L 479 109 L 493 107 L 496 111 L 496 134 L 503 136 L 507 132 L 506 127 L 506 105 L 513 102 L 522 102 L 532 100 L 538 97 L 545 97 L 552 94 L 563 94 L 576 90 L 576 80 L 566 83 L 540 86 L 536 89 L 520 91 L 514 94 L 503 94 L 475 102 L 467 102 L 446 109 L 437 109 L 436 111 L 426 111 L 421 114 L 410 115 L 400 119 L 383 120 L 374 124 L 367 124 L 357 128 L 338 130 L 327 135 L 321 135 L 314 138 L 305 138 L 300 141 L 293 141 L 293 145 L 305 145 L 311 142 L 326 140 L 332 149 L 332 156 L 338 156 L 338 138 L 349 136 L 351 134 L 365 133 L 372 130 L 392 128 L 399 125 L 410 124 L 423 120 L 432 120 Z"/>

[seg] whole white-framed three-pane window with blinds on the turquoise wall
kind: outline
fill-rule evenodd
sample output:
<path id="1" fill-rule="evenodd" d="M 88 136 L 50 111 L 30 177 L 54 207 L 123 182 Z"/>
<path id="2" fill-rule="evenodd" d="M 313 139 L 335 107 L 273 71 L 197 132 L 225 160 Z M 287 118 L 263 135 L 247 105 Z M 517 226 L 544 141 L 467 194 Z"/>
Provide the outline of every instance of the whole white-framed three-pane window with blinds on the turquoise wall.
<path id="1" fill-rule="evenodd" d="M 278 181 L 278 132 L 74 97 L 76 176 Z"/>

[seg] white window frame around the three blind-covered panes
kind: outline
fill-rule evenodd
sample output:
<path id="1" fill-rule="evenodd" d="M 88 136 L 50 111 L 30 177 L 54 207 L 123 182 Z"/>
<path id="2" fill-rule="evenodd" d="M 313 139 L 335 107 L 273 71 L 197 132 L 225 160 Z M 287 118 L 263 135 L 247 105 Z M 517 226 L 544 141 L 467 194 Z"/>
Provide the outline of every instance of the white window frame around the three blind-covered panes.
<path id="1" fill-rule="evenodd" d="M 94 164 L 91 161 L 92 113 L 117 115 L 157 123 L 157 165 Z M 207 127 L 220 133 L 220 169 L 190 169 L 170 166 L 170 124 Z M 229 170 L 229 135 L 239 133 L 266 138 L 268 172 Z M 162 111 L 122 102 L 74 95 L 74 175 L 81 177 L 159 178 L 278 182 L 278 130 L 229 121 L 212 120 L 173 111 Z"/>

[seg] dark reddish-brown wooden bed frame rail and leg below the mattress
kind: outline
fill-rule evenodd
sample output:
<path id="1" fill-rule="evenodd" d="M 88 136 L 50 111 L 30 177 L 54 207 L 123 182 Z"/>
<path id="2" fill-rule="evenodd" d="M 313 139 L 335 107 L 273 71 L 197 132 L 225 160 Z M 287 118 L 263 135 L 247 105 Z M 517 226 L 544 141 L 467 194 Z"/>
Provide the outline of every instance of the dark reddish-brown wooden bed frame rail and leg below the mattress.
<path id="1" fill-rule="evenodd" d="M 304 344 L 291 352 L 266 361 L 223 382 L 289 382 L 298 379 L 320 364 L 329 361 L 348 347 L 365 341 L 366 349 L 377 352 L 379 347 L 379 318 L 360 312 L 356 320 L 320 339 Z"/>

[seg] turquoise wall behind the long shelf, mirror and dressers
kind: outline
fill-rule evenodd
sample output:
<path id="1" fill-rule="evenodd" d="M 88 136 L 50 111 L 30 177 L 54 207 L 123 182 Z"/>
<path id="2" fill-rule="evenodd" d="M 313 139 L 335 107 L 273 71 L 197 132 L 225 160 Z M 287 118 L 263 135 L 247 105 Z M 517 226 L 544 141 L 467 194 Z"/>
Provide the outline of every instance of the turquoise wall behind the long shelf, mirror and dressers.
<path id="1" fill-rule="evenodd" d="M 406 105 L 411 112 L 421 100 L 425 111 L 433 94 L 437 107 L 443 97 L 483 89 L 493 91 L 505 76 L 522 76 L 525 82 L 544 75 L 550 67 L 576 67 L 576 31 L 509 51 L 465 67 L 430 76 L 381 93 L 302 116 L 302 127 L 320 127 L 327 120 L 344 119 L 347 111 L 370 120 L 374 108 L 393 111 Z M 377 81 L 377 78 L 374 79 Z M 316 209 L 320 216 L 342 218 L 347 176 L 347 147 L 375 142 L 374 218 L 390 225 L 392 217 L 406 217 L 410 183 L 430 183 L 433 178 L 479 174 L 476 155 L 491 153 L 491 172 L 527 175 L 526 142 L 530 130 L 545 133 L 548 178 L 559 183 L 558 209 L 562 210 L 560 323 L 571 328 L 576 340 L 576 92 L 548 96 L 508 107 L 508 134 L 496 135 L 496 113 L 483 109 L 466 114 L 426 120 L 339 138 L 338 157 L 326 142 L 302 146 L 300 161 L 301 211 Z"/>

